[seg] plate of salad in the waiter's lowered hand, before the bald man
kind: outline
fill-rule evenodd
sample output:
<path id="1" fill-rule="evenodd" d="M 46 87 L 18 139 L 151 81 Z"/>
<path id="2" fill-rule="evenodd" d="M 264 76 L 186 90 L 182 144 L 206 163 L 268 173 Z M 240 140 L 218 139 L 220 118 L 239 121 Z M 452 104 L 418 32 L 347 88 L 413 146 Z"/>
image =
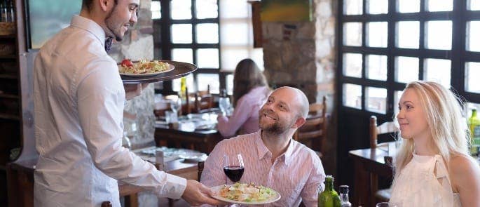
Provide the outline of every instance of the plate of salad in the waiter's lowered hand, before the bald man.
<path id="1" fill-rule="evenodd" d="M 273 203 L 282 197 L 275 190 L 254 183 L 236 182 L 233 185 L 215 186 L 212 190 L 214 199 L 246 205 Z"/>

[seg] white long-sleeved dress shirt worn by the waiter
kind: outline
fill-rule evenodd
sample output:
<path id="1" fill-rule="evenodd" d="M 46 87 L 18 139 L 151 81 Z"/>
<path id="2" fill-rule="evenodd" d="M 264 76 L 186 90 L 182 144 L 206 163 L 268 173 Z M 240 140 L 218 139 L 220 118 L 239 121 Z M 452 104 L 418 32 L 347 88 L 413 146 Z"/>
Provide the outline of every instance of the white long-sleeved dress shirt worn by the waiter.
<path id="1" fill-rule="evenodd" d="M 186 180 L 121 147 L 125 91 L 97 23 L 74 16 L 34 67 L 35 206 L 120 206 L 117 180 L 177 199 Z"/>

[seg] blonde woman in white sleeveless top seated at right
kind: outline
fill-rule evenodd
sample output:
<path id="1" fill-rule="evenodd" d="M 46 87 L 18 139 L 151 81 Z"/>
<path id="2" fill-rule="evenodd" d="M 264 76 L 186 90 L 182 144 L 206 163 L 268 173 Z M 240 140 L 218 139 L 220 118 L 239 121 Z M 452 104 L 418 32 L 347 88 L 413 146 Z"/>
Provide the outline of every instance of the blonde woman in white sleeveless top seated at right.
<path id="1" fill-rule="evenodd" d="M 399 101 L 404 139 L 396 157 L 390 203 L 397 206 L 480 206 L 480 167 L 458 98 L 440 84 L 413 81 Z"/>

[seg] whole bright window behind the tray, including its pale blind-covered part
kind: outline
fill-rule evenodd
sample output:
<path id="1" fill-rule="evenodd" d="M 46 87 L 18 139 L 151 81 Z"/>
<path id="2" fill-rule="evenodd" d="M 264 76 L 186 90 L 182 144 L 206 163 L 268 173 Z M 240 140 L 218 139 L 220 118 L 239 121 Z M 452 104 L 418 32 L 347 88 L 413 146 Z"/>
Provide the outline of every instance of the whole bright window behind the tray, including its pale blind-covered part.
<path id="1" fill-rule="evenodd" d="M 170 8 L 170 9 L 161 9 Z M 252 58 L 263 69 L 263 51 L 253 48 L 251 6 L 247 1 L 153 0 L 156 59 L 190 62 L 198 70 L 187 77 L 189 91 L 233 90 L 233 71 Z M 165 81 L 162 93 L 179 91 L 180 81 Z"/>

